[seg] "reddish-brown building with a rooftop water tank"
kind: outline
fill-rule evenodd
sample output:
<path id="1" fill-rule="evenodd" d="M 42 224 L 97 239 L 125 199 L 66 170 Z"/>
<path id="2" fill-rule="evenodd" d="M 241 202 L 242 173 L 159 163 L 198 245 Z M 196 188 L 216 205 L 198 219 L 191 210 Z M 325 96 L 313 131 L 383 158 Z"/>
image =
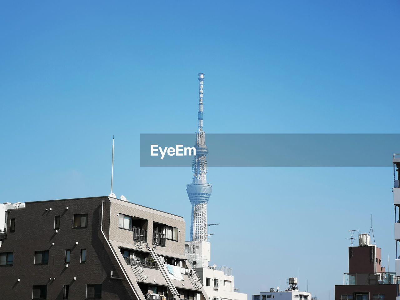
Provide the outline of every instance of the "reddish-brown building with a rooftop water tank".
<path id="1" fill-rule="evenodd" d="M 336 300 L 396 299 L 399 278 L 382 266 L 381 249 L 371 244 L 368 234 L 358 236 L 358 246 L 348 248 L 349 272 L 335 286 Z"/>

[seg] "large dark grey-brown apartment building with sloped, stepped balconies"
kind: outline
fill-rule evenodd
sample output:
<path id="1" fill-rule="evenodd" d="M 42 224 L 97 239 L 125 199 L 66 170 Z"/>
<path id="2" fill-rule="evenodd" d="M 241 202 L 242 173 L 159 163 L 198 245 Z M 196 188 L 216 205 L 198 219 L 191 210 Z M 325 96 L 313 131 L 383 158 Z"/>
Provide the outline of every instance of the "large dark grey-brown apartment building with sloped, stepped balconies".
<path id="1" fill-rule="evenodd" d="M 208 299 L 180 216 L 102 196 L 26 202 L 5 220 L 1 299 Z"/>

